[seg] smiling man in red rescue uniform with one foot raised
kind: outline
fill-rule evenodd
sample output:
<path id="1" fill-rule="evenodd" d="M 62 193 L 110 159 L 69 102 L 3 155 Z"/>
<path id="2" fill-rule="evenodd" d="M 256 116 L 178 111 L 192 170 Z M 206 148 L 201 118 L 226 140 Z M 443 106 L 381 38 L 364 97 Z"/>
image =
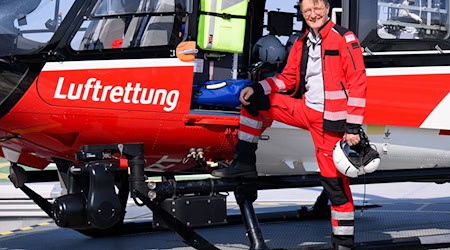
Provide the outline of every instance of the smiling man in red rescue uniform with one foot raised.
<path id="1" fill-rule="evenodd" d="M 366 105 L 366 74 L 355 34 L 329 18 L 328 0 L 303 0 L 300 8 L 309 30 L 294 43 L 283 72 L 241 91 L 239 141 L 229 168 L 212 175 L 254 178 L 257 142 L 277 120 L 310 131 L 322 185 L 331 201 L 332 243 L 354 243 L 354 206 L 349 181 L 333 162 L 339 140 L 360 141 Z M 301 143 L 301 142 L 299 142 Z"/>

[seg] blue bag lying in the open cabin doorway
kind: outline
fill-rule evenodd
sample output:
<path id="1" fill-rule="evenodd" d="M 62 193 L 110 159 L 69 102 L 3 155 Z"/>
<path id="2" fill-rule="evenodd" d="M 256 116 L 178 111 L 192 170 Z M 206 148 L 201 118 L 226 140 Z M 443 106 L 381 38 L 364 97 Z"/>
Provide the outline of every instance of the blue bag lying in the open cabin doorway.
<path id="1" fill-rule="evenodd" d="M 241 90 L 251 85 L 246 79 L 225 79 L 208 81 L 194 87 L 193 101 L 199 105 L 223 108 L 237 108 L 241 105 Z"/>

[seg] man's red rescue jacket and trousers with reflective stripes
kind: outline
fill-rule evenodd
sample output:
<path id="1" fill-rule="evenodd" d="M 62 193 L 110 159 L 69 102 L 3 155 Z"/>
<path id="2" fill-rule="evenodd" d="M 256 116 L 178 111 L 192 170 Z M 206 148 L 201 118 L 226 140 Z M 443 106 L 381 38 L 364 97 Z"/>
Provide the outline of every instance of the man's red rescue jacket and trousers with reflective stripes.
<path id="1" fill-rule="evenodd" d="M 243 108 L 238 136 L 240 140 L 257 143 L 273 120 L 309 130 L 323 177 L 322 185 L 331 201 L 332 242 L 353 245 L 354 206 L 349 181 L 336 169 L 332 155 L 334 145 L 344 132 L 357 134 L 363 123 L 365 67 L 359 41 L 351 31 L 329 21 L 319 32 L 324 112 L 309 108 L 302 98 L 308 57 L 306 33 L 294 43 L 283 72 L 253 86 L 255 96 L 269 96 L 270 109 L 259 111 L 255 117 Z"/>

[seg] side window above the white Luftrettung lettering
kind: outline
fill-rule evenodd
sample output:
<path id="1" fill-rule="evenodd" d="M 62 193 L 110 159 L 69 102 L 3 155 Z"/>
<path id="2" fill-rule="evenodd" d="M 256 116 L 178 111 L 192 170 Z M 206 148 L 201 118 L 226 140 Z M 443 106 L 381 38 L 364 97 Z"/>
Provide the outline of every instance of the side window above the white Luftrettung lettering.
<path id="1" fill-rule="evenodd" d="M 100 0 L 71 42 L 74 50 L 176 45 L 190 0 Z"/>

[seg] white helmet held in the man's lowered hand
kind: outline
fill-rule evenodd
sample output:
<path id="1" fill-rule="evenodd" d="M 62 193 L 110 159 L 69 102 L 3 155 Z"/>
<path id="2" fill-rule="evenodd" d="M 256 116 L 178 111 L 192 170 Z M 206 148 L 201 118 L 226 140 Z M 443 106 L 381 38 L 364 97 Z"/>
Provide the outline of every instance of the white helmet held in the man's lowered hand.
<path id="1" fill-rule="evenodd" d="M 354 149 L 345 141 L 338 141 L 334 146 L 333 161 L 337 170 L 343 175 L 356 178 L 378 169 L 380 155 L 370 146 L 367 136 L 364 133 L 363 135 L 365 138 L 360 135 L 361 142 L 352 147 Z"/>

